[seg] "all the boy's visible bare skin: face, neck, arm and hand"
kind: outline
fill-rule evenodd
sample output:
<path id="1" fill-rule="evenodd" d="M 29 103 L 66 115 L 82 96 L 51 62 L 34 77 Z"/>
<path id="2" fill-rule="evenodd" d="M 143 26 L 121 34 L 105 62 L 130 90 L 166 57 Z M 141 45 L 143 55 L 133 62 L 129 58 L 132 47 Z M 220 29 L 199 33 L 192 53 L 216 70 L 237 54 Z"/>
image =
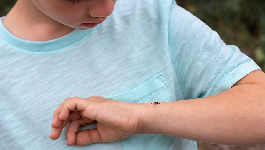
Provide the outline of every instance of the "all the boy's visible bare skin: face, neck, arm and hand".
<path id="1" fill-rule="evenodd" d="M 105 19 L 112 13 L 115 2 L 82 0 L 73 5 L 66 0 L 18 0 L 3 24 L 25 40 L 52 40 L 74 29 L 88 29 L 82 23 Z M 140 133 L 214 144 L 262 144 L 265 143 L 264 81 L 265 74 L 256 70 L 222 93 L 160 102 L 158 107 L 152 102 L 129 103 L 100 96 L 66 98 L 54 112 L 50 138 L 58 139 L 62 128 L 69 123 L 67 145 L 113 142 Z M 154 116 L 158 116 L 155 124 Z M 96 129 L 79 132 L 80 126 L 95 121 Z"/>

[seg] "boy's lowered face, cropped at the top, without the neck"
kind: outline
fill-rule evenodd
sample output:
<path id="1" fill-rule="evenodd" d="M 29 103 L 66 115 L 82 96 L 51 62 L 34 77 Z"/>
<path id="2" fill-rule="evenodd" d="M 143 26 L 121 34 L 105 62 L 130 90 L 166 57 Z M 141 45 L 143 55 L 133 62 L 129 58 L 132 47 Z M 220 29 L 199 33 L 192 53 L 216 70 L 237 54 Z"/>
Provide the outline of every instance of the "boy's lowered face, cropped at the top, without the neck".
<path id="1" fill-rule="evenodd" d="M 103 21 L 117 0 L 31 0 L 42 13 L 69 27 L 85 30 L 83 23 Z M 72 2 L 71 2 L 72 1 Z"/>

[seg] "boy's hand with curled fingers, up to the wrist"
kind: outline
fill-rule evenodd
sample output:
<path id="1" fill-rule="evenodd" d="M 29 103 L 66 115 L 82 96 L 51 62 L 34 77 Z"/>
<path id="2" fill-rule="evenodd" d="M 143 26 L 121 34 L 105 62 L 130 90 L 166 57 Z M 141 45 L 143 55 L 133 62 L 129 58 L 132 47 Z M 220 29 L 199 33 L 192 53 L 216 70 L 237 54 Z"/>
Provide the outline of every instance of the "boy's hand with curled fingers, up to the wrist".
<path id="1" fill-rule="evenodd" d="M 58 139 L 68 122 L 67 145 L 114 142 L 140 133 L 140 103 L 129 103 L 100 96 L 66 98 L 55 110 L 51 139 Z M 79 132 L 79 127 L 97 123 L 97 128 Z"/>

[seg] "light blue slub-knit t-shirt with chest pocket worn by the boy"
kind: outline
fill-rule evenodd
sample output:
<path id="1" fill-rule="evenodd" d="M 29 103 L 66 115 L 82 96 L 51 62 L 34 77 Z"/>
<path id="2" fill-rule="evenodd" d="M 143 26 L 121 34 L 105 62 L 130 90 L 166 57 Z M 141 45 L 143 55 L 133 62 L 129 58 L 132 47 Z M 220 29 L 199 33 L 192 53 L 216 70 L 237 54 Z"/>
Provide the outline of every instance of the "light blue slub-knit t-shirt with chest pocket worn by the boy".
<path id="1" fill-rule="evenodd" d="M 95 28 L 42 42 L 12 35 L 3 18 L 0 149 L 197 150 L 196 141 L 161 134 L 67 146 L 66 128 L 51 140 L 50 124 L 67 97 L 98 95 L 137 103 L 202 98 L 261 70 L 175 0 L 118 0 Z"/>

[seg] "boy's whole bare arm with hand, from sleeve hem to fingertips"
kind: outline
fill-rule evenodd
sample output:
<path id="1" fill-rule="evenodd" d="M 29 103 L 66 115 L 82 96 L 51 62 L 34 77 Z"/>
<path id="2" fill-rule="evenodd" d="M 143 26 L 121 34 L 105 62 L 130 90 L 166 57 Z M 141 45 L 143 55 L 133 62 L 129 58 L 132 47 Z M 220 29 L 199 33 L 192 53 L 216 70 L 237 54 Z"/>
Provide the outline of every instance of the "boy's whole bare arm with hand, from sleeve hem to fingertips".
<path id="1" fill-rule="evenodd" d="M 256 70 L 216 95 L 159 102 L 157 107 L 153 101 L 129 103 L 100 96 L 67 98 L 54 112 L 50 138 L 58 139 L 69 122 L 69 146 L 114 142 L 141 133 L 213 144 L 263 144 L 264 81 L 265 74 Z M 97 128 L 79 132 L 80 126 L 95 121 Z"/>

